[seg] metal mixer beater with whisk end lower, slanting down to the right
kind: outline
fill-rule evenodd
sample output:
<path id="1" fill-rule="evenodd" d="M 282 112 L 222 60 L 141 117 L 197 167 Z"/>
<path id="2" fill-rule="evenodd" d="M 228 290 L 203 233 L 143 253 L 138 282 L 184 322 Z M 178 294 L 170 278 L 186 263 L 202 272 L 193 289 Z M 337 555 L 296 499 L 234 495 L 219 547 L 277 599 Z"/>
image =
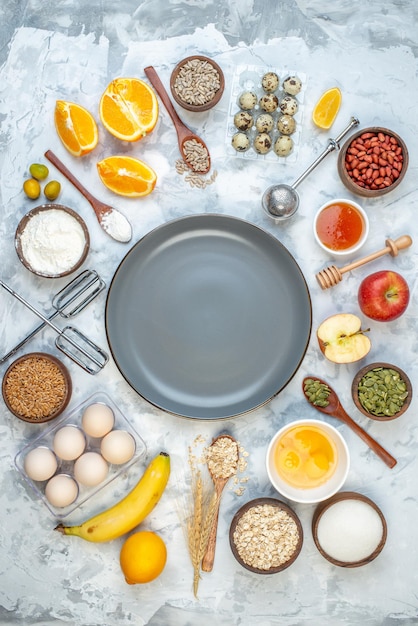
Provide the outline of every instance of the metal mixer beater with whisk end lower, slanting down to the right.
<path id="1" fill-rule="evenodd" d="M 24 304 L 32 313 L 37 315 L 44 324 L 57 333 L 58 337 L 55 340 L 56 347 L 74 361 L 74 363 L 89 374 L 97 374 L 103 369 L 109 360 L 109 356 L 102 348 L 91 341 L 91 339 L 83 335 L 83 333 L 74 326 L 66 326 L 63 329 L 59 328 L 2 280 L 0 280 L 0 287 L 3 287 L 3 289 Z"/>

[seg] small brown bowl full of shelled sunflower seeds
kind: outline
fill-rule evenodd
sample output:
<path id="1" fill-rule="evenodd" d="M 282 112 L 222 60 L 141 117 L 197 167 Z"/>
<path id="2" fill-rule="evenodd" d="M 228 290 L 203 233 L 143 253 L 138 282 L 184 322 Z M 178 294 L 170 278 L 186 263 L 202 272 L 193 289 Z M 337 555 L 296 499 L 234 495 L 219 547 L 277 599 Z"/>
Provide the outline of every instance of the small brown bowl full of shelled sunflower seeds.
<path id="1" fill-rule="evenodd" d="M 221 68 L 205 56 L 186 57 L 171 73 L 173 98 L 188 111 L 208 111 L 219 102 L 224 88 L 225 78 Z"/>

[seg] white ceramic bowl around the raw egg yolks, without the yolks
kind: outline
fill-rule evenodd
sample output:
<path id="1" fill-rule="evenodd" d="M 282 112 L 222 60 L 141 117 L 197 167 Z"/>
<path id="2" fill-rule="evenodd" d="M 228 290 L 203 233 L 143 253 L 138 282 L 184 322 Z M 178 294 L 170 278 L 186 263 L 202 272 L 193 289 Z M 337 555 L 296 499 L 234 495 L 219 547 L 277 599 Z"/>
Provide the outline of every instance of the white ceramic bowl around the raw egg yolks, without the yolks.
<path id="1" fill-rule="evenodd" d="M 274 453 L 279 439 L 295 426 L 314 426 L 330 438 L 336 449 L 336 468 L 331 476 L 321 485 L 310 488 L 298 488 L 289 484 L 278 473 L 274 463 Z M 283 496 L 294 502 L 312 504 L 322 502 L 334 495 L 344 485 L 350 469 L 350 454 L 345 440 L 338 430 L 321 420 L 297 420 L 283 426 L 271 440 L 266 455 L 267 474 L 273 487 Z"/>

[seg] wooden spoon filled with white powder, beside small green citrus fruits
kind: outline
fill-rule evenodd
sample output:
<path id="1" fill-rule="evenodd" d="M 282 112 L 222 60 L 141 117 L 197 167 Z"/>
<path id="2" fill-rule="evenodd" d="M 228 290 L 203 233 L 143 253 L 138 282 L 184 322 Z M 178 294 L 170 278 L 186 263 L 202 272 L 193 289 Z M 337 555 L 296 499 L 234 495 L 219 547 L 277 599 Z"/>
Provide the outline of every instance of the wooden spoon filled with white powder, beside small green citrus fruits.
<path id="1" fill-rule="evenodd" d="M 100 226 L 105 233 L 116 241 L 121 243 L 127 243 L 132 238 L 132 227 L 126 217 L 120 213 L 117 209 L 114 209 L 109 204 L 105 204 L 100 200 L 97 200 L 87 189 L 80 183 L 79 180 L 70 172 L 70 170 L 62 163 L 59 158 L 51 151 L 47 150 L 45 156 L 57 170 L 61 172 L 69 181 L 74 185 L 76 189 L 88 200 L 93 207 L 96 217 Z"/>

